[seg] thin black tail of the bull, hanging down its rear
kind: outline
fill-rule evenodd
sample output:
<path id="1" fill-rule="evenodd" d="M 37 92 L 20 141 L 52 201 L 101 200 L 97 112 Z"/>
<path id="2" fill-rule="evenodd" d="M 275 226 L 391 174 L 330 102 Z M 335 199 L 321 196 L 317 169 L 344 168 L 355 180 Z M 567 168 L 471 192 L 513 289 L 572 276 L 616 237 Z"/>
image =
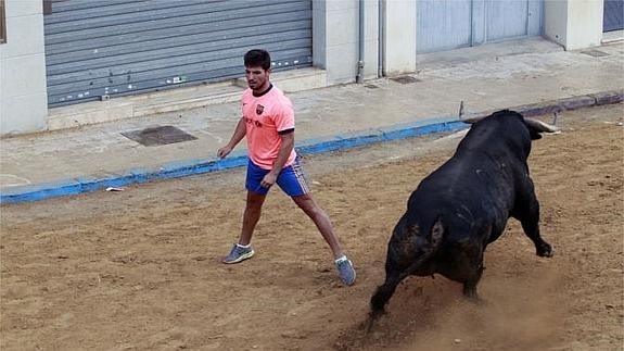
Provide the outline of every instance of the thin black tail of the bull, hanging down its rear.
<path id="1" fill-rule="evenodd" d="M 442 221 L 437 218 L 435 224 L 431 228 L 430 233 L 430 245 L 429 250 L 421 254 L 416 261 L 413 261 L 406 269 L 402 272 L 387 272 L 385 281 L 377 288 L 377 291 L 370 299 L 371 318 L 375 319 L 383 314 L 383 309 L 387 303 L 387 300 L 396 290 L 397 285 L 405 279 L 408 275 L 415 273 L 420 268 L 425 262 L 431 260 L 433 255 L 437 252 L 442 238 L 444 236 L 444 226 Z"/>

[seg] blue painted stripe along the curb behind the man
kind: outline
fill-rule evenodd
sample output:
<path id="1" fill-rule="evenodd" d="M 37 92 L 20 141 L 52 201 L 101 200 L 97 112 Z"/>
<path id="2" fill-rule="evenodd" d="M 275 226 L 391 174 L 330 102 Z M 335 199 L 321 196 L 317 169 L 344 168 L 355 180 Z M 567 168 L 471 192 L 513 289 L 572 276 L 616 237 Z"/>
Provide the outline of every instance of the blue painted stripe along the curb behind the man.
<path id="1" fill-rule="evenodd" d="M 428 120 L 413 124 L 396 125 L 387 129 L 371 129 L 357 134 L 338 135 L 331 138 L 304 140 L 297 145 L 296 150 L 300 154 L 316 154 L 466 127 L 466 124 L 451 121 L 451 118 Z M 107 187 L 123 187 L 156 179 L 169 179 L 225 171 L 246 164 L 246 154 L 244 154 L 244 152 L 235 152 L 231 156 L 222 160 L 183 160 L 166 163 L 157 168 L 131 168 L 97 178 L 85 176 L 40 185 L 18 186 L 3 189 L 2 192 L 0 192 L 0 204 L 39 201 L 101 190 Z"/>

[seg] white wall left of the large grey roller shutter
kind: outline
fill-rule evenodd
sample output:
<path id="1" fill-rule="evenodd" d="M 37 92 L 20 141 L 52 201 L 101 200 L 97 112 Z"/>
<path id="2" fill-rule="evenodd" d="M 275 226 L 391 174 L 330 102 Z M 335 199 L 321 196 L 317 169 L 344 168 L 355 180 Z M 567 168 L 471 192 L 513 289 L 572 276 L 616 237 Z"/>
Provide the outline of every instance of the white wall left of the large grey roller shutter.
<path id="1" fill-rule="evenodd" d="M 46 129 L 46 58 L 41 0 L 5 0 L 0 43 L 0 135 Z"/>

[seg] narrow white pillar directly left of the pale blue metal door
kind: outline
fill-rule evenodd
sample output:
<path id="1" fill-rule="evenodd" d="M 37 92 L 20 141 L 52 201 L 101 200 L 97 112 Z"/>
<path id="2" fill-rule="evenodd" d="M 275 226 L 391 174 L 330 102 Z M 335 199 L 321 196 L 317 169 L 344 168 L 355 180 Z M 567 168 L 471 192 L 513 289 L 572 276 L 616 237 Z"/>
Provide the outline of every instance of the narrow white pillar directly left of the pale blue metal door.
<path id="1" fill-rule="evenodd" d="M 384 0 L 384 73 L 394 76 L 416 71 L 416 4 L 413 0 Z"/>

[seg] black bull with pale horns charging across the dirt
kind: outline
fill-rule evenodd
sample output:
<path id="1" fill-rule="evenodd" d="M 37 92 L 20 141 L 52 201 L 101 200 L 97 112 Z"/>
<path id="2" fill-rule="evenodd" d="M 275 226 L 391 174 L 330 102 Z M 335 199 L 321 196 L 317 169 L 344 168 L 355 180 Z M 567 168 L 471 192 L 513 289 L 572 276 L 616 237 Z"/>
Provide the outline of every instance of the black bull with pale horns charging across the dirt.
<path id="1" fill-rule="evenodd" d="M 526 159 L 531 140 L 555 130 L 508 110 L 471 126 L 455 154 L 409 197 L 387 245 L 385 281 L 370 300 L 373 317 L 409 275 L 442 274 L 476 298 L 484 250 L 509 217 L 521 222 L 537 255 L 552 255 L 539 235 L 539 203 Z"/>

